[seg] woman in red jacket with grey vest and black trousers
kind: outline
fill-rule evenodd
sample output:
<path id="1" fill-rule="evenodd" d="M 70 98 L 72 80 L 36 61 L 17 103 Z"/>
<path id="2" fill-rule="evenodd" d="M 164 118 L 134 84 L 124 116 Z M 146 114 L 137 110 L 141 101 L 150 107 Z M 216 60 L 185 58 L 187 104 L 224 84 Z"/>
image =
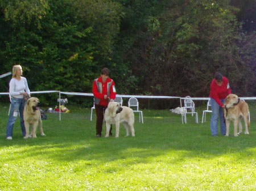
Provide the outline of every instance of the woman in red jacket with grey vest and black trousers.
<path id="1" fill-rule="evenodd" d="M 101 137 L 105 109 L 108 107 L 109 101 L 113 101 L 116 95 L 114 80 L 109 78 L 109 69 L 106 67 L 101 70 L 101 76 L 94 79 L 92 92 L 97 115 L 96 137 Z M 112 135 L 112 126 L 109 135 Z"/>

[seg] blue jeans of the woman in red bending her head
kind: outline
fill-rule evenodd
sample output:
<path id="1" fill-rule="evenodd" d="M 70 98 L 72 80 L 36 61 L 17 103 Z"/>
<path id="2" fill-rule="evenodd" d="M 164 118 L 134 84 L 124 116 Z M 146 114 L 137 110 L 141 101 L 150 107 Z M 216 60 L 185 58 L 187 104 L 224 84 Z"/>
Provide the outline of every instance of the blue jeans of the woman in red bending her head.
<path id="1" fill-rule="evenodd" d="M 221 100 L 224 103 L 226 99 Z M 212 105 L 212 118 L 210 118 L 210 130 L 212 135 L 218 134 L 218 116 L 220 116 L 220 130 L 221 134 L 226 134 L 226 124 L 224 122 L 223 108 L 212 98 L 210 98 L 210 104 Z"/>

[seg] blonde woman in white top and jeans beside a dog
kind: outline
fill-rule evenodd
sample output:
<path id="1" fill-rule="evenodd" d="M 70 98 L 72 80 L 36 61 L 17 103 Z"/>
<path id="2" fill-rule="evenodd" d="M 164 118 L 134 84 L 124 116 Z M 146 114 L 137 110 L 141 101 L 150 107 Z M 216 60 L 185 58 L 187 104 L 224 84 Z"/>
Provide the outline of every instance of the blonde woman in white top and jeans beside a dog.
<path id="1" fill-rule="evenodd" d="M 13 125 L 20 116 L 20 126 L 23 137 L 26 135 L 26 129 L 23 120 L 24 106 L 26 100 L 30 97 L 30 89 L 28 88 L 27 79 L 22 77 L 22 67 L 20 65 L 13 66 L 13 77 L 9 83 L 9 94 L 11 95 L 11 108 L 9 113 L 9 120 L 7 123 L 6 139 L 13 139 Z"/>

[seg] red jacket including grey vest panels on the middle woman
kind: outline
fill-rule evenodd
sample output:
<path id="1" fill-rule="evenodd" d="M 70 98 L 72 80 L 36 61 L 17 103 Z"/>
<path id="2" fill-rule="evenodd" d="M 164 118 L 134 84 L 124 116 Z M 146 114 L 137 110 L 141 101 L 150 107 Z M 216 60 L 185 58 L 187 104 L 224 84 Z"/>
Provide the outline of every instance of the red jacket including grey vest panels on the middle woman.
<path id="1" fill-rule="evenodd" d="M 95 99 L 94 103 L 106 106 L 108 105 L 108 100 L 104 99 L 104 95 L 108 95 L 110 99 L 115 99 L 115 83 L 110 78 L 107 78 L 104 83 L 102 78 L 99 77 L 93 81 L 92 92 Z"/>

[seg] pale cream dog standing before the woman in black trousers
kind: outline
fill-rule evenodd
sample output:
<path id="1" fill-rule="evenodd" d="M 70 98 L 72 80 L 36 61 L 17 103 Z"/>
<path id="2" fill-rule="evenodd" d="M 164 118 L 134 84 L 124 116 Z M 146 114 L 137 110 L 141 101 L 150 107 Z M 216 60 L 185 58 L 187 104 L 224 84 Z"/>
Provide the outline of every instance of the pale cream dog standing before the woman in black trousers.
<path id="1" fill-rule="evenodd" d="M 121 122 L 123 123 L 123 126 L 125 126 L 126 136 L 129 136 L 129 130 L 131 131 L 131 136 L 135 136 L 133 109 L 126 106 L 120 107 L 119 103 L 117 102 L 109 102 L 104 118 L 106 121 L 105 137 L 109 137 L 111 124 L 115 125 L 115 137 L 119 137 L 119 126 Z"/>

